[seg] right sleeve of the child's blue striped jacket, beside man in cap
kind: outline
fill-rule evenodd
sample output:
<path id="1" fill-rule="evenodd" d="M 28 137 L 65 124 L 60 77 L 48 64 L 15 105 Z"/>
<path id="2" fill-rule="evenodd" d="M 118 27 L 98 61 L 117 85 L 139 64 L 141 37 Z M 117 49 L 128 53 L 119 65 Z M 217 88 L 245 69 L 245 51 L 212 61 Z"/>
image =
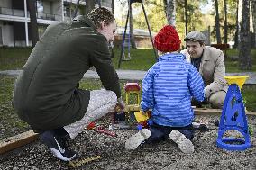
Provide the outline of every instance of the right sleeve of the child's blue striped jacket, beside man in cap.
<path id="1" fill-rule="evenodd" d="M 189 66 L 188 87 L 192 97 L 194 97 L 199 102 L 204 101 L 204 81 L 202 76 L 200 76 L 199 72 L 197 71 L 197 68 L 193 67 L 192 65 Z"/>

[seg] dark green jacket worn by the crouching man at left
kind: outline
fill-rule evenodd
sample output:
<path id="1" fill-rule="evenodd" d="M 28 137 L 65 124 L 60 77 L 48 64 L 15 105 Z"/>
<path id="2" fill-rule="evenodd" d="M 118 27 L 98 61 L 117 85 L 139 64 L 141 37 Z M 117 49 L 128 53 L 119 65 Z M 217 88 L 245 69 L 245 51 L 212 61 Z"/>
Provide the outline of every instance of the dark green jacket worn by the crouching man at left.
<path id="1" fill-rule="evenodd" d="M 90 67 L 96 68 L 106 90 L 121 96 L 107 40 L 93 22 L 83 16 L 51 24 L 15 82 L 15 111 L 38 132 L 82 119 L 90 93 L 78 89 L 78 83 Z"/>

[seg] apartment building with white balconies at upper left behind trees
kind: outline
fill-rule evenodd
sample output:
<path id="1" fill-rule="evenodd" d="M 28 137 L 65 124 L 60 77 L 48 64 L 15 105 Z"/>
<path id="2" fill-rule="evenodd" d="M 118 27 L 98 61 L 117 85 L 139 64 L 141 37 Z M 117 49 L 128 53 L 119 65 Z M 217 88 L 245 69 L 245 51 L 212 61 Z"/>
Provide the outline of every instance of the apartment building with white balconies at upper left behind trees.
<path id="1" fill-rule="evenodd" d="M 96 0 L 97 5 L 111 10 L 111 0 Z M 47 26 L 53 22 L 70 22 L 76 8 L 77 0 L 37 0 L 37 23 L 39 37 Z M 85 7 L 86 1 L 80 0 L 79 9 Z M 78 10 L 79 14 L 80 11 Z M 0 46 L 31 46 L 30 13 L 26 0 L 0 0 Z"/>

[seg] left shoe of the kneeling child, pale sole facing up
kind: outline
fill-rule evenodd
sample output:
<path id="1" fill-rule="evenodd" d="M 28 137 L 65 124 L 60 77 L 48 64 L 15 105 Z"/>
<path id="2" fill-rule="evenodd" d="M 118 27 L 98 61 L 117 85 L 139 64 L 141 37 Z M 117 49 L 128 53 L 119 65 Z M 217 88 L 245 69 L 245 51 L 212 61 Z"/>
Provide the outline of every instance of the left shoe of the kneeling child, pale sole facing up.
<path id="1" fill-rule="evenodd" d="M 143 141 L 150 138 L 151 136 L 151 130 L 148 129 L 142 129 L 138 131 L 135 135 L 130 137 L 125 142 L 125 148 L 127 150 L 134 150 L 135 148 L 138 148 Z"/>

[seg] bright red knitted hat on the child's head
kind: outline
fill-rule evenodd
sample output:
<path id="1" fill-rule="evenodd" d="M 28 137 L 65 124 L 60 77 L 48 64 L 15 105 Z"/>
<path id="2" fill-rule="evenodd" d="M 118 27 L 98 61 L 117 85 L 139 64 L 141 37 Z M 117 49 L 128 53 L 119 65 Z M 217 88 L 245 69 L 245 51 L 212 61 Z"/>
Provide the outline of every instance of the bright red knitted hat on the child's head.
<path id="1" fill-rule="evenodd" d="M 180 48 L 178 32 L 170 25 L 164 26 L 154 39 L 154 46 L 161 52 L 177 51 Z"/>

